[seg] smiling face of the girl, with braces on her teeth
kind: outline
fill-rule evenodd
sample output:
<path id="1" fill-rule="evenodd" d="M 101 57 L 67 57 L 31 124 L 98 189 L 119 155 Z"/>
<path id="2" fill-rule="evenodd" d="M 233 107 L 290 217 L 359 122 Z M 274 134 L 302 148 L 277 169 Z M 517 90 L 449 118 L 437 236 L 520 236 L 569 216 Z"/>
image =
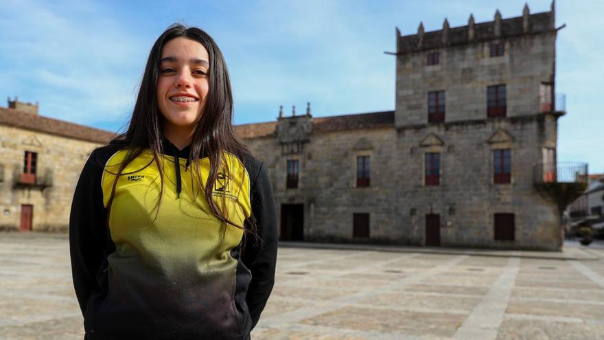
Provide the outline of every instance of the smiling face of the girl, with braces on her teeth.
<path id="1" fill-rule="evenodd" d="M 200 120 L 209 91 L 207 49 L 189 38 L 174 38 L 161 51 L 157 105 L 163 132 L 190 135 Z"/>

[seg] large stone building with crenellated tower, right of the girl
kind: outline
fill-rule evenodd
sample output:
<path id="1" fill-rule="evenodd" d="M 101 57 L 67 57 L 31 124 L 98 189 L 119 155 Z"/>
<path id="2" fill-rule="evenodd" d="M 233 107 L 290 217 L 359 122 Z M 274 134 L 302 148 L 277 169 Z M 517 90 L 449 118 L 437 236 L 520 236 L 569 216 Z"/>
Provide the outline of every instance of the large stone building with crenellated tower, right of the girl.
<path id="1" fill-rule="evenodd" d="M 281 240 L 560 249 L 587 166 L 557 166 L 554 14 L 397 30 L 395 111 L 238 126 Z"/>

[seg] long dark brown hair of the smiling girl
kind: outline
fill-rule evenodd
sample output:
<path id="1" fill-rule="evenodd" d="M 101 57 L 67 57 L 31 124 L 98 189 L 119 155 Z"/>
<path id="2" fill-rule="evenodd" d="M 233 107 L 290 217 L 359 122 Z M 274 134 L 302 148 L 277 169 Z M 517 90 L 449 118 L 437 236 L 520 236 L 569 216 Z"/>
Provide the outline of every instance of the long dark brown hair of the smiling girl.
<path id="1" fill-rule="evenodd" d="M 230 172 L 228 162 L 224 162 L 224 152 L 230 152 L 243 163 L 246 162 L 248 157 L 251 157 L 252 153 L 243 141 L 235 135 L 233 129 L 233 94 L 231 92 L 229 70 L 227 69 L 227 64 L 224 62 L 224 56 L 222 56 L 222 52 L 220 52 L 218 45 L 216 45 L 211 36 L 197 27 L 185 27 L 185 25 L 181 24 L 170 25 L 157 38 L 149 52 L 130 124 L 125 133 L 122 133 L 111 141 L 112 144 L 121 144 L 128 151 L 126 152 L 124 161 L 121 161 L 117 170 L 107 206 L 107 214 L 111 211 L 117 179 L 119 179 L 119 176 L 127 174 L 124 172 L 126 166 L 147 149 L 153 154 L 151 163 L 154 162 L 159 169 L 161 192 L 156 203 L 156 216 L 159 213 L 159 206 L 163 199 L 164 171 L 163 162 L 160 161 L 161 154 L 163 153 L 161 143 L 161 139 L 163 138 L 163 115 L 157 106 L 157 79 L 159 76 L 161 52 L 164 45 L 168 41 L 179 37 L 197 41 L 205 47 L 209 55 L 209 92 L 201 118 L 191 139 L 188 161 L 191 165 L 194 188 L 198 189 L 195 194 L 199 192 L 204 193 L 205 200 L 211 212 L 221 222 L 222 238 L 224 238 L 227 223 L 240 229 L 241 227 L 235 225 L 229 216 L 227 216 L 227 205 L 224 204 L 224 196 L 222 196 L 222 209 L 219 209 L 218 205 L 212 199 L 213 183 L 216 183 L 219 169 L 222 168 L 224 170 L 226 168 Z M 208 157 L 210 163 L 210 172 L 205 183 L 202 183 L 202 179 L 200 178 L 199 160 L 201 155 Z M 259 239 L 253 216 L 249 222 L 250 227 L 244 231 L 253 234 L 256 239 Z"/>

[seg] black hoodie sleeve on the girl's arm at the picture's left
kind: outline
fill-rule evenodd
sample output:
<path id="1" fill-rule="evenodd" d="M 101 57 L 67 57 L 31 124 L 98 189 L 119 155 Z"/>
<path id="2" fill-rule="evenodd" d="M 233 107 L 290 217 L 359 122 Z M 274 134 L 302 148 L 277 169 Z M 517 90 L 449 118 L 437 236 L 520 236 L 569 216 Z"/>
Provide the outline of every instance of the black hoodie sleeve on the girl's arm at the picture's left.
<path id="1" fill-rule="evenodd" d="M 106 209 L 103 205 L 101 179 L 104 163 L 95 150 L 84 164 L 73 194 L 69 217 L 69 251 L 75 295 L 82 315 L 95 288 L 97 272 L 104 260 Z"/>

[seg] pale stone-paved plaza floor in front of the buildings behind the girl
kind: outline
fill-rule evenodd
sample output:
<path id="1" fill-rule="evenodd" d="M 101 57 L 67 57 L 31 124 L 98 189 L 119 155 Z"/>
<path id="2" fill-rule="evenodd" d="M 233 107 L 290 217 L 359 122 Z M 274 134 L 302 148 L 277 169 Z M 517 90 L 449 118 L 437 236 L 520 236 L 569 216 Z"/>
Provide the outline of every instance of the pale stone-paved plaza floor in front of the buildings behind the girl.
<path id="1" fill-rule="evenodd" d="M 252 336 L 604 339 L 604 247 L 567 249 L 585 256 L 281 247 Z M 2 233 L 0 256 L 0 339 L 82 339 L 67 236 Z"/>

